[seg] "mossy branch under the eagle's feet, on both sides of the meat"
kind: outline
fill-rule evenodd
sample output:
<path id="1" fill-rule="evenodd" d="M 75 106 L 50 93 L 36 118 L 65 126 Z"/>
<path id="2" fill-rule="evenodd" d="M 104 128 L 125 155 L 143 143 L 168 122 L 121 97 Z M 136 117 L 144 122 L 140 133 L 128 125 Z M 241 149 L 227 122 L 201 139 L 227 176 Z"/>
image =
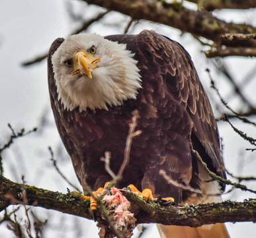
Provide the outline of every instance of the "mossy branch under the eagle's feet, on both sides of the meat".
<path id="1" fill-rule="evenodd" d="M 81 201 L 72 194 L 52 192 L 35 186 L 13 182 L 0 175 L 0 210 L 11 204 L 23 204 L 22 194 L 26 192 L 26 204 L 40 206 L 66 214 L 93 219 L 89 212 L 89 200 Z M 145 202 L 138 195 L 122 191 L 131 202 L 131 212 L 138 223 L 162 223 L 164 225 L 189 225 L 198 227 L 210 223 L 235 221 L 256 221 L 256 200 L 244 202 L 226 201 L 216 204 L 198 204 L 192 206 L 160 206 L 154 202 Z M 97 216 L 98 221 L 101 216 Z"/>

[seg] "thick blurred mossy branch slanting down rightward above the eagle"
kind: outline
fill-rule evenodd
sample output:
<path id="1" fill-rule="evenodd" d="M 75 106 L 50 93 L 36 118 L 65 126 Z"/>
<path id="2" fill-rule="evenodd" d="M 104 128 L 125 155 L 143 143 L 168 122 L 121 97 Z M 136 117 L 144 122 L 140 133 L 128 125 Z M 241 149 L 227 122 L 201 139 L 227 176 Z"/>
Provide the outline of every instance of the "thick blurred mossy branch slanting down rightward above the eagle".
<path id="1" fill-rule="evenodd" d="M 217 41 L 224 33 L 256 33 L 256 28 L 247 24 L 227 23 L 214 17 L 211 13 L 192 11 L 183 7 L 182 3 L 166 3 L 164 1 L 140 0 L 83 0 L 89 4 L 105 7 L 129 15 L 135 20 L 151 20 L 167 26 L 178 28 L 183 32 L 200 35 Z"/>

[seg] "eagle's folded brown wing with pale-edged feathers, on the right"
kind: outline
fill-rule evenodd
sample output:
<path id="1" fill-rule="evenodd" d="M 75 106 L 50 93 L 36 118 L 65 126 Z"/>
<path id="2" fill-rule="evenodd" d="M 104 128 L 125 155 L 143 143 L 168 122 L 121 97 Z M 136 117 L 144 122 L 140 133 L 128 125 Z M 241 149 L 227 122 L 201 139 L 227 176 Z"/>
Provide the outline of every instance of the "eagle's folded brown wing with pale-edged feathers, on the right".
<path id="1" fill-rule="evenodd" d="M 141 37 L 138 42 L 143 39 L 141 44 L 145 44 L 145 41 L 157 42 L 157 45 L 151 43 L 149 50 L 161 65 L 161 74 L 166 79 L 170 93 L 175 100 L 185 104 L 191 116 L 193 148 L 200 153 L 211 171 L 226 177 L 212 106 L 198 79 L 191 56 L 179 43 L 155 32 L 143 31 L 138 37 Z"/>

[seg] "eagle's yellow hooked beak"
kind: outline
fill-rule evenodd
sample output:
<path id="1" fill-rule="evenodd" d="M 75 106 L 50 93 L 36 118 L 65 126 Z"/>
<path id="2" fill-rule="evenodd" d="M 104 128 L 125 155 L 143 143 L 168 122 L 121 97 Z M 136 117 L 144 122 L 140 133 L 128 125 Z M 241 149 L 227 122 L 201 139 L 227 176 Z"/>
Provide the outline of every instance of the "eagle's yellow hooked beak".
<path id="1" fill-rule="evenodd" d="M 97 67 L 96 63 L 99 61 L 101 61 L 101 58 L 94 58 L 91 55 L 85 54 L 85 52 L 77 52 L 77 54 L 75 54 L 74 71 L 71 72 L 71 75 L 77 73 L 79 73 L 79 75 L 85 75 L 86 73 L 91 79 L 91 72 Z"/>

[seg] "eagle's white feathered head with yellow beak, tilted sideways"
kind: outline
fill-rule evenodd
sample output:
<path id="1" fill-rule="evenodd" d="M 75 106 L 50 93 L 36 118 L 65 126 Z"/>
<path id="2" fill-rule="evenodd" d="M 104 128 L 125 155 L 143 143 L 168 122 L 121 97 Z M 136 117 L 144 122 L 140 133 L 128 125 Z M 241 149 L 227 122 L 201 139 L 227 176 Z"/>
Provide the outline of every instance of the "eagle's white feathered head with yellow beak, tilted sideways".
<path id="1" fill-rule="evenodd" d="M 141 80 L 133 56 L 125 44 L 98 34 L 69 36 L 52 56 L 59 100 L 82 111 L 136 99 Z"/>

